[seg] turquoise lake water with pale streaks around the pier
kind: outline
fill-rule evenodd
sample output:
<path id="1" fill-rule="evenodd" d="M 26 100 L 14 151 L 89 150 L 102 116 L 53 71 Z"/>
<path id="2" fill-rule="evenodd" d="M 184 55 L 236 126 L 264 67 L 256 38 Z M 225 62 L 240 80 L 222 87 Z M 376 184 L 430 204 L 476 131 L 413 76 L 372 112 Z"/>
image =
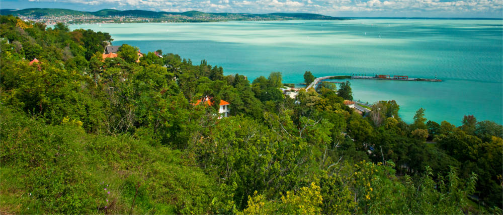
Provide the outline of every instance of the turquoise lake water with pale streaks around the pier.
<path id="1" fill-rule="evenodd" d="M 286 83 L 315 76 L 387 74 L 443 82 L 351 80 L 354 98 L 396 100 L 411 122 L 426 109 L 429 120 L 460 125 L 463 115 L 503 121 L 503 27 L 501 20 L 279 21 L 74 25 L 109 32 L 113 45 L 142 52 L 162 49 L 206 59 L 224 74 L 250 80 L 283 74 Z"/>

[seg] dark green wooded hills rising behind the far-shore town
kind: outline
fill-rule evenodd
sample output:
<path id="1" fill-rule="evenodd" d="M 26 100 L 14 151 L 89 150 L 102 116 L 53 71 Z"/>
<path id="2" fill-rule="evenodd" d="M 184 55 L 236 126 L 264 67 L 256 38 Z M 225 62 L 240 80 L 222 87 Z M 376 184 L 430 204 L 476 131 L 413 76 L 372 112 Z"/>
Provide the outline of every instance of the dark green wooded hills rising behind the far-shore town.
<path id="1" fill-rule="evenodd" d="M 200 11 L 187 11 L 183 13 L 176 12 L 153 12 L 142 10 L 129 10 L 119 11 L 105 9 L 97 12 L 83 12 L 68 9 L 47 9 L 47 8 L 31 8 L 23 10 L 2 9 L 2 15 L 13 16 L 26 16 L 26 17 L 46 17 L 46 16 L 81 16 L 81 15 L 94 15 L 97 17 L 110 17 L 110 16 L 130 16 L 138 18 L 157 18 L 162 19 L 169 15 L 179 15 L 189 18 L 218 18 L 220 20 L 250 20 L 250 19 L 263 19 L 263 20 L 342 20 L 337 17 L 324 16 L 319 14 L 288 14 L 288 13 L 272 13 L 272 14 L 233 14 L 233 13 L 205 13 Z"/>

